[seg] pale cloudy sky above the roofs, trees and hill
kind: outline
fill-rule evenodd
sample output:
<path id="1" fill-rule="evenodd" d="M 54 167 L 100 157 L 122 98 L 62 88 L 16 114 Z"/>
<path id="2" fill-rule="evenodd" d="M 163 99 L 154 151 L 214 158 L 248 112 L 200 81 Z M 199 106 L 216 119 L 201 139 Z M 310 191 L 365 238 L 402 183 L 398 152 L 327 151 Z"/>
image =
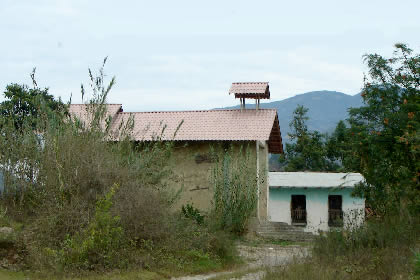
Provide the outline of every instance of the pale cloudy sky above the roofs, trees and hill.
<path id="1" fill-rule="evenodd" d="M 38 86 L 81 103 L 104 57 L 125 111 L 239 104 L 232 82 L 268 81 L 271 101 L 357 94 L 362 56 L 420 49 L 420 1 L 0 0 L 0 88 Z M 89 91 L 88 91 L 89 93 Z M 89 94 L 88 94 L 89 95 Z M 4 100 L 0 96 L 0 101 Z"/>

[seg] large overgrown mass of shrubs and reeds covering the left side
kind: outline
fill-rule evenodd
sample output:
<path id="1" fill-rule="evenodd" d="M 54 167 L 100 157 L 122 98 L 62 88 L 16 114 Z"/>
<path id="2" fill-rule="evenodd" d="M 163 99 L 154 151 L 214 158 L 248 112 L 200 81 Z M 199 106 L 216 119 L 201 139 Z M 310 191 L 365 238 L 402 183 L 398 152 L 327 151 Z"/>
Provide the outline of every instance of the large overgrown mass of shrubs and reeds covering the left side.
<path id="1" fill-rule="evenodd" d="M 35 81 L 33 89 L 7 87 L 0 104 L 0 222 L 13 234 L 0 234 L 3 260 L 49 279 L 102 279 L 93 272 L 114 279 L 119 276 L 108 277 L 111 271 L 132 269 L 169 277 L 232 265 L 230 234 L 192 206 L 173 211 L 176 194 L 167 185 L 172 144 L 158 137 L 132 141 L 132 119 L 110 131 L 106 98 L 114 79 L 105 83 L 103 67 L 97 75 L 89 70 L 84 121 Z M 115 137 L 119 141 L 108 141 Z"/>

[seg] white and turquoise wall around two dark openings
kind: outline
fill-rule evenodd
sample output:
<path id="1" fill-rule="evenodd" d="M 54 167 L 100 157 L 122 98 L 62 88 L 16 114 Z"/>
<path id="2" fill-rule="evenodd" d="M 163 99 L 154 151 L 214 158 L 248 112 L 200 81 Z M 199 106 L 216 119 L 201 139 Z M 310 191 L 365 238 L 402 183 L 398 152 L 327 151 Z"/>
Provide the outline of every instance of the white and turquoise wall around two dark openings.
<path id="1" fill-rule="evenodd" d="M 352 189 L 332 188 L 270 188 L 269 219 L 291 224 L 290 203 L 292 195 L 306 196 L 307 225 L 305 231 L 317 233 L 328 227 L 328 195 L 342 196 L 344 227 L 360 225 L 364 220 L 365 202 L 362 198 L 352 197 Z"/>

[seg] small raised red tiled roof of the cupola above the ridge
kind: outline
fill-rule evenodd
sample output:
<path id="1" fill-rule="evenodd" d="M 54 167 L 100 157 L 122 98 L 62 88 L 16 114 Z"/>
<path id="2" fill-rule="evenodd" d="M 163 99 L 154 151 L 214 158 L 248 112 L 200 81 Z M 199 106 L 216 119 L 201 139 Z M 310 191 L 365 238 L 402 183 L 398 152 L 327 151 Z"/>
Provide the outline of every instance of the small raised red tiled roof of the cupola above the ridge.
<path id="1" fill-rule="evenodd" d="M 232 83 L 229 90 L 229 94 L 231 93 L 235 94 L 235 98 L 270 98 L 268 82 Z"/>

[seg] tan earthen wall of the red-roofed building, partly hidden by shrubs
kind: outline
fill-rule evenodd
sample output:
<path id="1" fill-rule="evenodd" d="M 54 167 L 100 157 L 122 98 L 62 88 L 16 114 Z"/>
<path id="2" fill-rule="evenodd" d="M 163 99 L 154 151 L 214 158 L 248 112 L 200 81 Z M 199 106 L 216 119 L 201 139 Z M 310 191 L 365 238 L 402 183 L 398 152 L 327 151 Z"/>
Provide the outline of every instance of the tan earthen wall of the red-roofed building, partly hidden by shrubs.
<path id="1" fill-rule="evenodd" d="M 251 153 L 253 163 L 256 164 L 256 142 L 229 142 L 234 145 L 234 150 L 239 150 L 240 146 L 248 146 Z M 180 198 L 175 204 L 175 208 L 179 209 L 187 203 L 193 204 L 194 207 L 202 211 L 208 211 L 211 207 L 213 199 L 213 190 L 210 183 L 211 162 L 196 162 L 196 156 L 206 156 L 213 149 L 222 149 L 223 143 L 220 142 L 184 142 L 177 143 L 174 147 L 171 157 L 171 166 L 173 175 L 169 180 L 169 185 L 176 191 L 182 188 Z M 266 165 L 268 164 L 268 149 L 265 143 L 260 143 L 260 202 L 259 209 L 262 218 L 267 218 L 267 195 L 268 180 Z M 255 166 L 256 168 L 256 166 Z"/>

